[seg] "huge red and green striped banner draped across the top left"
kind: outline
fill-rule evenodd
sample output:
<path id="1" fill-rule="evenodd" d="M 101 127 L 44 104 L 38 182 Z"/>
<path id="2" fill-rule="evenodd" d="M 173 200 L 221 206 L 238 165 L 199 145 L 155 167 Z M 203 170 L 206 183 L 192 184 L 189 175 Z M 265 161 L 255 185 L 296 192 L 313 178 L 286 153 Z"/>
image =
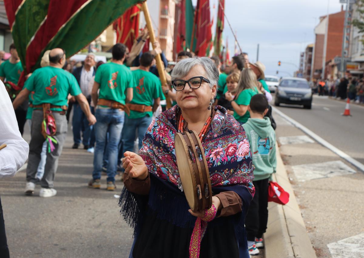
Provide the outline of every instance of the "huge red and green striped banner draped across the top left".
<path id="1" fill-rule="evenodd" d="M 25 73 L 40 67 L 43 53 L 63 48 L 70 57 L 141 0 L 4 0 Z"/>

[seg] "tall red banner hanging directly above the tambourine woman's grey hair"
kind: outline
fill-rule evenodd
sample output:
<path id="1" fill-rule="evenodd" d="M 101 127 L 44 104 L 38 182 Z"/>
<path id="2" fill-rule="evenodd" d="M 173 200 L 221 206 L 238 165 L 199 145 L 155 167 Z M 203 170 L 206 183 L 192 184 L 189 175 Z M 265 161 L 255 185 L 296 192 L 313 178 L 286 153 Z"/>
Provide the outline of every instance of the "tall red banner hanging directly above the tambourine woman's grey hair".
<path id="1" fill-rule="evenodd" d="M 210 32 L 209 32 L 210 29 Z M 210 43 L 210 0 L 197 0 L 195 19 L 193 23 L 192 51 L 197 56 L 205 56 Z M 212 37 L 212 35 L 211 35 Z"/>

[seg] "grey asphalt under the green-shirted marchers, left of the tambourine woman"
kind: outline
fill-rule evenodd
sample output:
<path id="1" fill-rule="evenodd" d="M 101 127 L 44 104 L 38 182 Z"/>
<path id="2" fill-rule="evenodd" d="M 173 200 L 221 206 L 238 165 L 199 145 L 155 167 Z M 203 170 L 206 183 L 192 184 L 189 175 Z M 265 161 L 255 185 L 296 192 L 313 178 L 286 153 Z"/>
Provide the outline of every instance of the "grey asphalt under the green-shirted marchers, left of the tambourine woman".
<path id="1" fill-rule="evenodd" d="M 29 140 L 29 134 L 24 135 Z M 122 218 L 114 194 L 116 191 L 87 187 L 91 179 L 93 155 L 72 150 L 72 131 L 59 159 L 55 178 L 57 195 L 52 198 L 24 195 L 25 170 L 0 180 L 5 230 L 13 258 L 126 258 L 132 243 L 132 230 Z M 1 257 L 1 254 L 0 254 Z"/>

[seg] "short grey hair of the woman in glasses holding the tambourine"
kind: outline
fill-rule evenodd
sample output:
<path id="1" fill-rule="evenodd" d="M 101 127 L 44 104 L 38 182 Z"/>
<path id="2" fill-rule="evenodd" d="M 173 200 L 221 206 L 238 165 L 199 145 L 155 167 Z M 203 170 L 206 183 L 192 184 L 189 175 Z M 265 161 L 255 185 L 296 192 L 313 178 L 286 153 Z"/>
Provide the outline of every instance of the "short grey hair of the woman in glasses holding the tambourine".
<path id="1" fill-rule="evenodd" d="M 181 79 L 185 77 L 190 70 L 197 65 L 201 65 L 206 71 L 206 79 L 210 80 L 210 88 L 214 85 L 217 86 L 219 81 L 219 71 L 217 70 L 215 63 L 209 57 L 193 57 L 186 58 L 179 61 L 173 68 L 171 77 L 172 80 Z"/>

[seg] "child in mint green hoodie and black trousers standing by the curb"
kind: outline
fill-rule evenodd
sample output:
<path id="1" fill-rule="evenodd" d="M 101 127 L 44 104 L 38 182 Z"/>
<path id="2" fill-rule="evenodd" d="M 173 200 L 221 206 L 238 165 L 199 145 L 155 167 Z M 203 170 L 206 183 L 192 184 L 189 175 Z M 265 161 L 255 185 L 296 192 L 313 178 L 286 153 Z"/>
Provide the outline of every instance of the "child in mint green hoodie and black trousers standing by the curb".
<path id="1" fill-rule="evenodd" d="M 250 118 L 243 125 L 249 139 L 254 169 L 255 195 L 245 219 L 249 254 L 257 255 L 263 248 L 263 233 L 268 222 L 268 182 L 276 172 L 276 133 L 268 117 L 268 101 L 263 94 L 252 97 L 248 106 Z"/>

